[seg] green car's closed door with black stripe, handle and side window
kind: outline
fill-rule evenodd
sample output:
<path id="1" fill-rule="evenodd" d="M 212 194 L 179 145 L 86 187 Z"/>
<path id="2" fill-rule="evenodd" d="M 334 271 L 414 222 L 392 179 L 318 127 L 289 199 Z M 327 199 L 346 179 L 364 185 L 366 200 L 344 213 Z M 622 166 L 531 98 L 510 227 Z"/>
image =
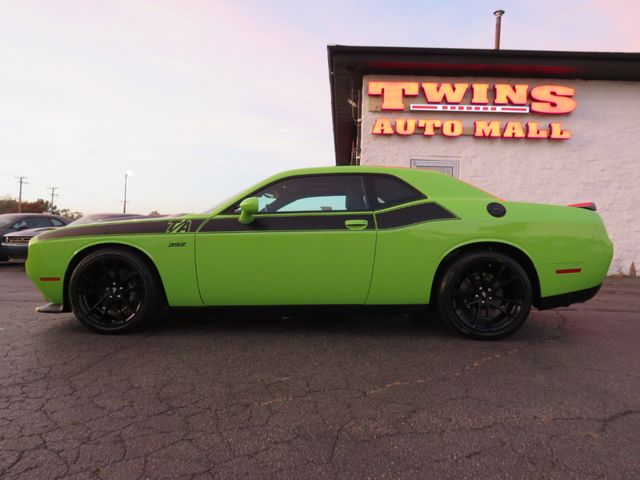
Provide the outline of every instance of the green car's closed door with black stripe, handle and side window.
<path id="1" fill-rule="evenodd" d="M 205 305 L 365 302 L 376 230 L 362 176 L 287 177 L 249 197 L 253 222 L 238 222 L 237 202 L 196 235 Z"/>

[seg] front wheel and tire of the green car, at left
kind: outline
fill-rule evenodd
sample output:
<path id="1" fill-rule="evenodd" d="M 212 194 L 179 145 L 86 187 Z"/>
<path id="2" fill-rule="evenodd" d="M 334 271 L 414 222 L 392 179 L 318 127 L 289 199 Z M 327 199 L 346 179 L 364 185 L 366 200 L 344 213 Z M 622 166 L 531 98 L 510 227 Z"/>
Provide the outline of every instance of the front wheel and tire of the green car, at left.
<path id="1" fill-rule="evenodd" d="M 161 298 L 159 281 L 147 260 L 119 248 L 88 254 L 69 282 L 74 315 L 99 333 L 133 330 L 156 314 Z"/>

